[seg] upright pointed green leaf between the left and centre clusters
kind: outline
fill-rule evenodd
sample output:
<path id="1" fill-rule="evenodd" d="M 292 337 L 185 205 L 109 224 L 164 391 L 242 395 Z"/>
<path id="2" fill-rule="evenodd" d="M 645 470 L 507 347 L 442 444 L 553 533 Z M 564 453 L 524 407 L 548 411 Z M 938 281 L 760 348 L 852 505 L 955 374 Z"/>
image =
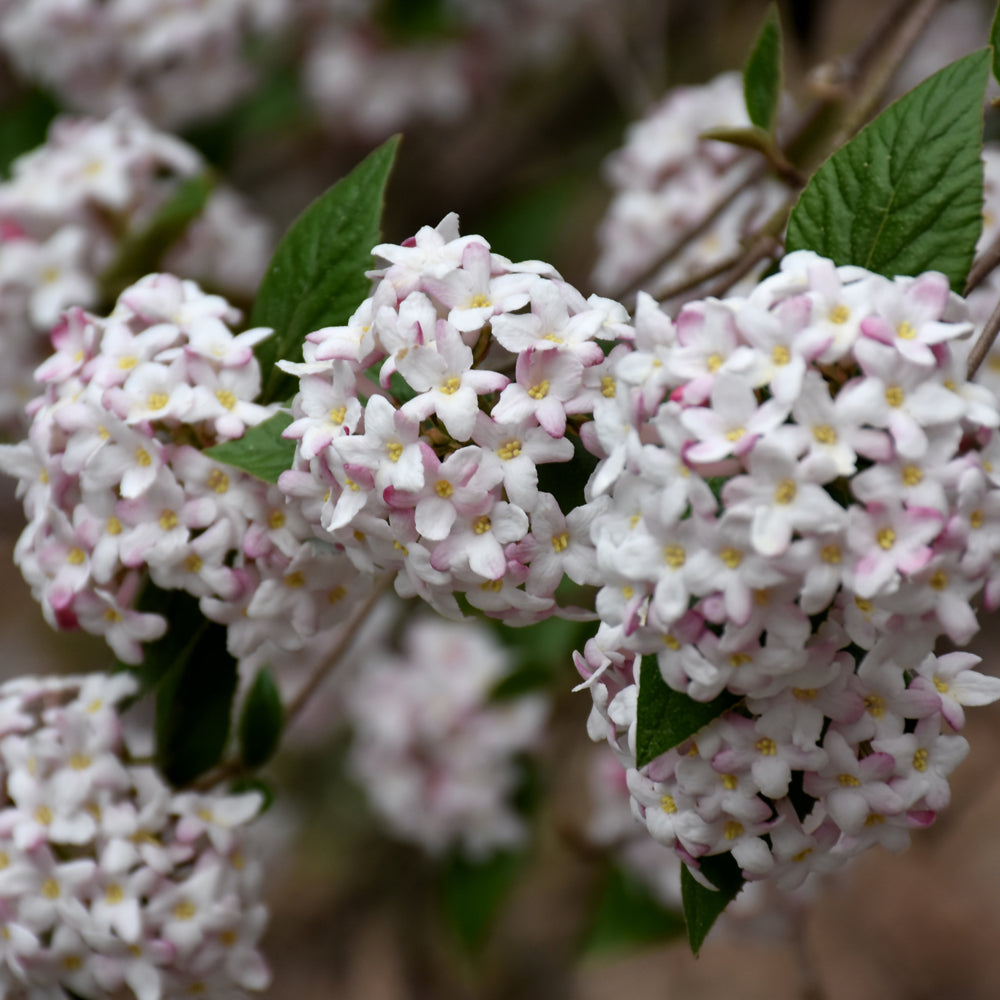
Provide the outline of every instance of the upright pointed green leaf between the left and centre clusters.
<path id="1" fill-rule="evenodd" d="M 256 349 L 264 375 L 259 402 L 289 397 L 295 380 L 275 362 L 301 361 L 306 334 L 343 325 L 368 294 L 365 271 L 380 239 L 385 187 L 398 145 L 398 136 L 383 143 L 320 195 L 278 244 L 250 317 L 251 326 L 275 331 Z"/>

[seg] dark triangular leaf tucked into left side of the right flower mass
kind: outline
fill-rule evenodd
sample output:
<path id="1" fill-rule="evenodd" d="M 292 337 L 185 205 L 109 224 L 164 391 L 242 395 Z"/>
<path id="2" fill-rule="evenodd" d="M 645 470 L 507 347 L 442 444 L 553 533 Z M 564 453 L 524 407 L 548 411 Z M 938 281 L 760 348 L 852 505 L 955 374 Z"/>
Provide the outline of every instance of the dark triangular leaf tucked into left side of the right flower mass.
<path id="1" fill-rule="evenodd" d="M 728 691 L 712 701 L 695 701 L 664 681 L 655 657 L 644 656 L 636 706 L 636 767 L 644 767 L 683 743 L 740 701 L 738 695 Z"/>

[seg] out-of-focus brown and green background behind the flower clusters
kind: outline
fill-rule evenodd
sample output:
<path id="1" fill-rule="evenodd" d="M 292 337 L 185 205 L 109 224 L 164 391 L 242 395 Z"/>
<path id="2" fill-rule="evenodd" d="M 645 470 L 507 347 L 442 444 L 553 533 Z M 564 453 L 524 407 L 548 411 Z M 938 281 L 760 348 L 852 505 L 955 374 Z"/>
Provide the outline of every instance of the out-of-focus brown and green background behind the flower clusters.
<path id="1" fill-rule="evenodd" d="M 227 289 L 247 306 L 277 234 L 397 131 L 404 142 L 387 240 L 457 212 L 462 231 L 482 233 L 495 251 L 549 261 L 585 293 L 595 290 L 607 251 L 597 234 L 613 195 L 608 158 L 670 88 L 740 69 L 767 4 L 257 0 L 238 31 L 220 28 L 208 42 L 166 3 L 132 22 L 123 15 L 118 36 L 95 33 L 93 11 L 90 21 L 73 23 L 77 15 L 66 11 L 46 21 L 51 6 L 0 4 L 6 176 L 58 113 L 102 117 L 131 105 L 190 144 L 253 213 L 252 259 L 250 243 L 219 251 L 247 255 L 237 277 L 229 275 L 239 287 Z M 151 13 L 160 6 L 162 14 Z M 893 91 L 985 44 L 992 6 L 942 4 Z M 899 9 L 877 0 L 779 7 L 793 110 L 822 89 L 829 74 L 816 67 L 836 65 Z M 180 39 L 176 51 L 171 39 Z M 192 53 L 218 78 L 191 83 Z M 996 131 L 989 120 L 987 131 Z M 217 283 L 225 281 L 217 275 Z M 23 516 L 12 488 L 3 489 L 4 671 L 107 666 L 98 640 L 56 634 L 43 622 L 13 565 Z M 636 843 L 617 765 L 586 736 L 590 698 L 571 692 L 578 678 L 570 651 L 588 634 L 586 624 L 561 622 L 522 633 L 477 624 L 464 635 L 435 633 L 417 608 L 380 608 L 268 770 L 278 793 L 261 823 L 272 907 L 269 996 L 1000 995 L 1000 707 L 969 714 L 972 751 L 954 776 L 951 808 L 915 835 L 908 853 L 871 851 L 794 899 L 748 892 L 694 959 L 675 905 L 676 867 Z M 998 635 L 986 621 L 975 647 L 987 672 L 1000 666 Z M 400 677 L 430 670 L 451 647 L 459 668 L 494 664 L 481 671 L 479 688 L 449 688 L 445 698 L 428 674 L 397 716 L 372 717 L 356 693 L 362 678 L 384 668 L 381 683 L 401 691 L 392 669 Z M 495 756 L 474 738 L 462 742 L 477 725 L 506 734 L 495 738 Z M 479 769 L 442 776 L 442 761 L 456 752 L 475 757 Z M 435 767 L 441 773 L 429 778 Z M 504 801 L 479 803 L 478 821 L 511 824 L 506 841 L 461 832 L 458 806 L 453 826 L 434 825 L 430 799 L 421 798 L 436 794 L 434 782 L 453 781 L 468 804 L 477 783 L 491 780 Z M 389 789 L 381 797 L 380 782 Z"/>

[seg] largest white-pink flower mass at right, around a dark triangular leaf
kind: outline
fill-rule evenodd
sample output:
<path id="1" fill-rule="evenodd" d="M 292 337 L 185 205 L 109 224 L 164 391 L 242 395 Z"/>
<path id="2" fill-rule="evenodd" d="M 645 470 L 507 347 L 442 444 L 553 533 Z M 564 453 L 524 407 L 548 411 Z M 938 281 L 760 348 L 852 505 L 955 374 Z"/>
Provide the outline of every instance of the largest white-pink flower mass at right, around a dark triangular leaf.
<path id="1" fill-rule="evenodd" d="M 901 849 L 949 800 L 963 706 L 1000 697 L 968 641 L 1000 603 L 1000 412 L 966 380 L 971 324 L 933 272 L 785 258 L 676 324 L 640 300 L 595 410 L 601 628 L 591 732 L 651 834 L 796 885 Z M 733 707 L 635 768 L 638 663 Z M 648 675 L 647 675 L 648 676 Z"/>

